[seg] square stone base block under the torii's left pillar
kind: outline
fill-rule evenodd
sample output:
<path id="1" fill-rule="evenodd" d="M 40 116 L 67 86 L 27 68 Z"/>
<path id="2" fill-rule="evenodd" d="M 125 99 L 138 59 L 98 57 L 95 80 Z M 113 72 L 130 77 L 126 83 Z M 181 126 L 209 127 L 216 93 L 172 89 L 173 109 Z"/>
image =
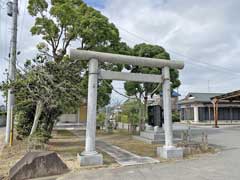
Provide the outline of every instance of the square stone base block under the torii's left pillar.
<path id="1" fill-rule="evenodd" d="M 80 166 L 97 166 L 103 164 L 103 156 L 97 152 L 85 154 L 84 152 L 77 155 Z"/>

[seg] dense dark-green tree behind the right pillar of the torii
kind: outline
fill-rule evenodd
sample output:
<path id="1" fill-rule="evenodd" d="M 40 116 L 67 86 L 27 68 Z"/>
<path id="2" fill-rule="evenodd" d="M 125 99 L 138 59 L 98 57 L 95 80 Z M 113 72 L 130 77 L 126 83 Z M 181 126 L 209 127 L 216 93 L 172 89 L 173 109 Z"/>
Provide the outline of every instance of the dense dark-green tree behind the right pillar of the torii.
<path id="1" fill-rule="evenodd" d="M 132 54 L 134 56 L 166 59 L 170 60 L 170 55 L 165 49 L 158 45 L 151 44 L 138 44 L 135 45 Z M 132 73 L 145 73 L 145 74 L 161 74 L 161 68 L 157 67 L 141 67 L 141 66 L 126 66 L 126 68 Z M 171 77 L 171 88 L 177 88 L 180 86 L 179 73 L 175 69 L 170 70 Z M 129 96 L 136 96 L 138 99 L 144 98 L 145 101 L 145 119 L 146 119 L 146 107 L 147 107 L 147 97 L 148 95 L 153 96 L 154 94 L 160 94 L 161 85 L 156 83 L 137 83 L 137 82 L 125 82 L 124 88 Z"/>

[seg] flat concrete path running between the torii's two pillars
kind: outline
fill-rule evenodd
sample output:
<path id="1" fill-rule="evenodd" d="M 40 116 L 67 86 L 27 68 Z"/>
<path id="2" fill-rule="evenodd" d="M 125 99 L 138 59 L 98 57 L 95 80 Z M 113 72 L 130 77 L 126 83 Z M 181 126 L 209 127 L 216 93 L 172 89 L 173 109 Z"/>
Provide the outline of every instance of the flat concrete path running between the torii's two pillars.
<path id="1" fill-rule="evenodd" d="M 97 141 L 97 148 L 112 156 L 122 166 L 149 164 L 159 162 L 150 157 L 141 157 L 120 147 L 113 146 L 103 141 Z"/>

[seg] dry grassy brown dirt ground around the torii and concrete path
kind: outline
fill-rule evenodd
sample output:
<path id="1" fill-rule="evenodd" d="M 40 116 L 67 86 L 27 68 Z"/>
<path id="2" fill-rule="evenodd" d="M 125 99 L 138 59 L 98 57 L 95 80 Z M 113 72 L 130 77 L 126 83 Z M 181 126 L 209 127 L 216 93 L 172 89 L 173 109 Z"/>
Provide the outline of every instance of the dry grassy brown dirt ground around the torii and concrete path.
<path id="1" fill-rule="evenodd" d="M 84 150 L 84 135 L 84 131 L 55 130 L 52 133 L 52 138 L 46 145 L 46 150 L 57 152 L 72 171 L 79 171 L 80 169 L 84 169 L 79 166 L 79 162 L 77 161 L 77 154 Z M 112 134 L 97 131 L 97 139 L 116 145 L 140 156 L 149 156 L 159 159 L 156 155 L 156 148 L 160 145 L 152 145 L 135 140 L 127 131 L 115 131 Z M 27 144 L 27 140 L 15 140 L 12 147 L 5 146 L 3 148 L 0 154 L 0 177 L 8 176 L 9 169 L 28 151 Z M 104 156 L 104 165 L 102 167 L 119 166 L 111 156 L 100 150 L 98 151 Z M 193 156 L 191 155 L 189 157 Z M 160 159 L 160 161 L 166 162 L 163 159 Z"/>

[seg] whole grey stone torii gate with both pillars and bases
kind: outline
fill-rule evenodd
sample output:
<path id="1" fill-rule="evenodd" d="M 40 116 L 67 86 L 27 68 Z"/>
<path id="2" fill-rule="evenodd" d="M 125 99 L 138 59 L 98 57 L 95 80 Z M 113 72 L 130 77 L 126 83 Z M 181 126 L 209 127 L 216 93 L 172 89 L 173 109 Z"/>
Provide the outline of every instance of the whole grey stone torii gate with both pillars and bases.
<path id="1" fill-rule="evenodd" d="M 100 53 L 94 51 L 75 49 L 71 49 L 69 55 L 71 59 L 89 61 L 86 142 L 84 152 L 78 155 L 81 166 L 100 165 L 103 163 L 102 154 L 99 154 L 96 151 L 95 145 L 98 79 L 162 83 L 165 145 L 163 147 L 157 148 L 157 152 L 161 157 L 167 159 L 181 158 L 183 156 L 183 150 L 181 148 L 176 148 L 173 145 L 171 87 L 170 87 L 170 68 L 183 69 L 184 63 L 182 61 L 173 60 L 169 61 L 164 59 L 125 56 L 118 54 Z M 162 75 L 99 70 L 98 68 L 99 62 L 108 62 L 114 64 L 130 64 L 147 67 L 159 67 L 162 68 Z"/>

